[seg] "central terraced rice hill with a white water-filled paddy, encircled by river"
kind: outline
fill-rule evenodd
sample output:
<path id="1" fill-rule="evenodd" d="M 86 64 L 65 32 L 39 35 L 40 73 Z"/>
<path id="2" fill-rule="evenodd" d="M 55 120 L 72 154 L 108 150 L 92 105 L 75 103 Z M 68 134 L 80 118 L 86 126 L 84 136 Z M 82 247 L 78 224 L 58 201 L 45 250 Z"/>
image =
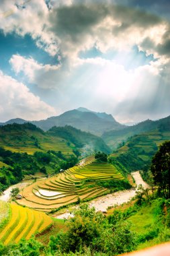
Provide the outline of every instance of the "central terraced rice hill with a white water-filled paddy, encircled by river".
<path id="1" fill-rule="evenodd" d="M 93 161 L 94 157 L 89 156 L 79 166 L 26 187 L 21 192 L 23 198 L 17 200 L 17 203 L 50 212 L 60 206 L 75 203 L 78 199 L 92 199 L 110 192 L 97 186 L 95 180 L 124 179 L 112 164 L 97 164 Z"/>

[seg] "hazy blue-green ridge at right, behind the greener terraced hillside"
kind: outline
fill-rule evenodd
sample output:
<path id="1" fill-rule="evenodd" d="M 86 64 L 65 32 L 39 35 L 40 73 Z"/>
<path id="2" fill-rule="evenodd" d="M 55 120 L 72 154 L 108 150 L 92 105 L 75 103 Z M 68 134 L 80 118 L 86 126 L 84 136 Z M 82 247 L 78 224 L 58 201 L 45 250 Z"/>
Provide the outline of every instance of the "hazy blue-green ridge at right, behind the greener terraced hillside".
<path id="1" fill-rule="evenodd" d="M 157 121 L 146 120 L 137 125 L 126 127 L 119 131 L 108 131 L 103 133 L 101 136 L 105 143 L 110 146 L 112 149 L 116 149 L 122 141 L 126 141 L 128 137 L 133 135 L 138 135 L 145 131 L 151 131 L 154 129 L 167 130 L 169 131 L 170 127 L 170 116 Z"/>

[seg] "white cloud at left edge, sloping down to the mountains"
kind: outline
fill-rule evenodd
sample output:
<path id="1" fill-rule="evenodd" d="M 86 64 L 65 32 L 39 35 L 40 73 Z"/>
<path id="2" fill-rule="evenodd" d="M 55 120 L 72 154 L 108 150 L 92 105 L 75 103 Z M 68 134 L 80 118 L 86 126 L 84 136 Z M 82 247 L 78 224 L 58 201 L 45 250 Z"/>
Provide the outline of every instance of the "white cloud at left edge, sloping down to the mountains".
<path id="1" fill-rule="evenodd" d="M 56 114 L 54 108 L 32 94 L 24 84 L 4 75 L 2 71 L 0 71 L 0 91 L 1 121 L 15 117 L 26 120 L 45 119 Z"/>

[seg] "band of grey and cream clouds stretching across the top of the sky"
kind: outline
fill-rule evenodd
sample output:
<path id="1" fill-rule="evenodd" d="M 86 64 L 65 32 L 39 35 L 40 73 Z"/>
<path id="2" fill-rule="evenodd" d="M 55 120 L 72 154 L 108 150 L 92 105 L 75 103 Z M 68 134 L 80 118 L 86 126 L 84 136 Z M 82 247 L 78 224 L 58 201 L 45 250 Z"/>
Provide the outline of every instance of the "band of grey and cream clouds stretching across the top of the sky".
<path id="1" fill-rule="evenodd" d="M 169 30 L 167 21 L 156 14 L 115 2 L 85 1 L 82 4 L 82 1 L 66 0 L 51 1 L 47 5 L 44 0 L 25 4 L 19 0 L 17 4 L 3 0 L 0 28 L 5 34 L 30 34 L 38 47 L 52 56 L 61 54 L 71 63 L 76 61 L 80 51 L 91 49 L 94 44 L 101 52 L 122 51 L 134 44 L 147 51 L 143 44 L 147 38 L 152 42 L 151 53 L 159 57 L 162 53 L 169 55 L 169 40 L 163 39 Z"/>

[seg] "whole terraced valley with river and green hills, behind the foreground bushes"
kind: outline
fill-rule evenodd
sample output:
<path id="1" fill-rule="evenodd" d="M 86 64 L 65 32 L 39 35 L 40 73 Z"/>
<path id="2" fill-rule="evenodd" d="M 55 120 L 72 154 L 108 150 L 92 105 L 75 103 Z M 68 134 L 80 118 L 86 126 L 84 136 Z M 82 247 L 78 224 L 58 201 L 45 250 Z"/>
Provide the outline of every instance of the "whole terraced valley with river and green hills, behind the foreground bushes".
<path id="1" fill-rule="evenodd" d="M 81 111 L 85 113 L 84 109 Z M 98 115 L 112 119 L 103 113 Z M 52 250 L 54 238 L 50 236 L 58 237 L 62 230 L 65 235 L 69 234 L 67 222 L 72 225 L 72 221 L 68 217 L 79 222 L 84 218 L 77 217 L 76 212 L 81 212 L 81 207 L 86 209 L 81 214 L 87 215 L 93 212 L 94 207 L 93 218 L 101 218 L 98 214 L 104 213 L 107 216 L 105 221 L 102 220 L 104 226 L 112 218 L 113 222 L 117 220 L 114 218 L 120 218 L 115 216 L 116 211 L 120 211 L 119 215 L 126 217 L 121 217 L 121 221 L 118 219 L 118 225 L 127 225 L 126 228 L 132 232 L 136 229 L 128 227 L 128 218 L 138 226 L 133 214 L 140 218 L 140 212 L 144 214 L 146 209 L 149 218 L 159 223 L 159 231 L 155 233 L 155 222 L 152 221 L 149 222 L 151 228 L 146 232 L 141 226 L 141 234 L 136 234 L 136 245 L 140 249 L 159 243 L 163 223 L 148 211 L 148 203 L 151 203 L 151 209 L 159 209 L 161 216 L 163 203 L 157 203 L 157 192 L 151 192 L 151 187 L 146 183 L 152 186 L 152 158 L 162 143 L 169 139 L 169 117 L 154 123 L 146 121 L 134 127 L 105 131 L 101 137 L 69 125 L 54 126 L 48 131 L 32 123 L 2 125 L 0 242 L 3 247 L 17 247 L 24 238 L 24 243 L 37 243 L 38 246 L 39 243 L 43 243 L 43 246 L 48 243 L 48 248 Z M 19 198 L 11 193 L 12 189 L 19 189 Z M 160 200 L 167 204 L 165 199 Z M 66 224 L 65 218 L 68 218 Z M 166 223 L 167 218 L 165 216 Z M 147 223 L 144 222 L 144 225 Z M 151 236 L 150 233 L 148 236 L 150 230 Z M 166 237 L 168 233 L 167 226 Z M 39 255 L 48 255 L 42 249 L 38 250 L 41 251 Z M 52 255 L 55 255 L 54 252 Z"/>

